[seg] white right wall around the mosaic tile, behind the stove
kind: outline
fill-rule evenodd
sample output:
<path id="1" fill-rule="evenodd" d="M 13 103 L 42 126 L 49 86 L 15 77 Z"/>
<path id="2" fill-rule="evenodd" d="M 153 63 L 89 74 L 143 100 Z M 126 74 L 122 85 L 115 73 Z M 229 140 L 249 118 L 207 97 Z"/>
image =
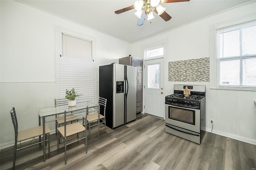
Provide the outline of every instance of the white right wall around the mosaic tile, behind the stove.
<path id="1" fill-rule="evenodd" d="M 256 15 L 256 2 L 203 18 L 184 26 L 132 44 L 132 56 L 143 57 L 141 47 L 155 41 L 168 39 L 168 62 L 210 57 L 209 27 L 250 14 Z M 171 24 L 172 20 L 168 21 Z M 211 80 L 210 80 L 211 81 Z M 209 120 L 214 120 L 212 132 L 256 144 L 256 91 L 210 89 L 209 82 L 172 82 L 166 76 L 165 94 L 173 93 L 174 84 L 206 85 L 206 128 L 211 131 Z"/>

